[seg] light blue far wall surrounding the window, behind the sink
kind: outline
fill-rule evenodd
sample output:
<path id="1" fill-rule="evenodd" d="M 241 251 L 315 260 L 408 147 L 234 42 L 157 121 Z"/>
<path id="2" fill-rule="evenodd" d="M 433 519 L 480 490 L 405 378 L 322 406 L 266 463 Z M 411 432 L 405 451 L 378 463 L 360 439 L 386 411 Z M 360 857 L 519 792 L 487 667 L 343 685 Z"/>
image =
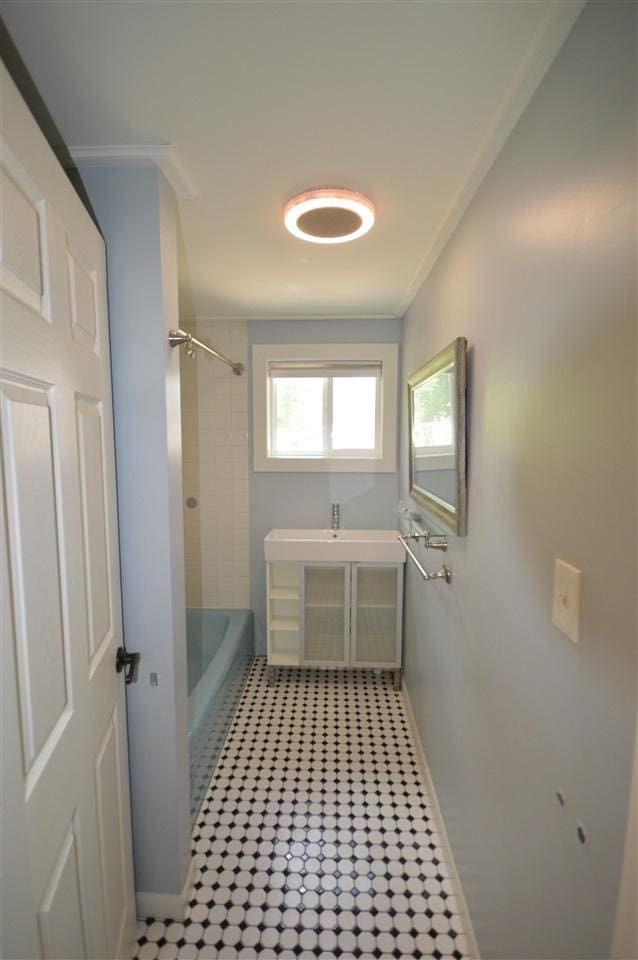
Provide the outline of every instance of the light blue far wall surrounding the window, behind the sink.
<path id="1" fill-rule="evenodd" d="M 399 320 L 253 320 L 254 343 L 400 343 Z M 250 371 L 249 371 L 250 377 Z M 401 377 L 399 376 L 399 381 Z M 252 410 L 252 396 L 249 398 Z M 264 537 L 274 527 L 327 527 L 330 504 L 341 505 L 344 527 L 392 527 L 398 499 L 397 473 L 256 473 L 250 444 L 250 592 L 256 648 L 265 652 L 266 564 Z"/>

